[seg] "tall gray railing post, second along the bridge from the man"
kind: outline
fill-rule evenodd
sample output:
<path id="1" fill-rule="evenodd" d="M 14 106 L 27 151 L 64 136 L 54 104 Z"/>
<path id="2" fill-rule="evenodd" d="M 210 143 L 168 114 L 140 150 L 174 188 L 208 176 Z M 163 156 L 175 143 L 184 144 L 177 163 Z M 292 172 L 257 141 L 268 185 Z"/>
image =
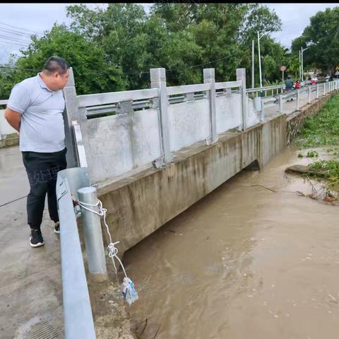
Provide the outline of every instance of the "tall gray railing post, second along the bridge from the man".
<path id="1" fill-rule="evenodd" d="M 150 87 L 159 88 L 160 150 L 162 165 L 172 161 L 169 143 L 168 97 L 165 69 L 150 69 Z"/>

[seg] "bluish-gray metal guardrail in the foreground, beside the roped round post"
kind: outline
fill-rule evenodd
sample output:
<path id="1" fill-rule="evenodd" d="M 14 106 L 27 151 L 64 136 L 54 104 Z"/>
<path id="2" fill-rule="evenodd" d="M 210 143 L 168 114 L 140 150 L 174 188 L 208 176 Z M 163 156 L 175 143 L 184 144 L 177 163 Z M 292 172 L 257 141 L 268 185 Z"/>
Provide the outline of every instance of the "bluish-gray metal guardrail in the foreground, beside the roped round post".
<path id="1" fill-rule="evenodd" d="M 65 339 L 95 339 L 95 328 L 83 264 L 83 255 L 71 194 L 90 186 L 85 168 L 58 172 L 57 200 L 60 219 L 60 251 Z"/>

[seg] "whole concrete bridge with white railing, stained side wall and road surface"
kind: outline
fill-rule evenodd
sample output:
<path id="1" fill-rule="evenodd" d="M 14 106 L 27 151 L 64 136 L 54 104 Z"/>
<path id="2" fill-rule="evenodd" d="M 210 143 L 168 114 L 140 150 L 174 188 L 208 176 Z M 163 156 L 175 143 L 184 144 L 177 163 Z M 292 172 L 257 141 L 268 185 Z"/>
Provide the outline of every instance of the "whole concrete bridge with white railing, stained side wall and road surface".
<path id="1" fill-rule="evenodd" d="M 332 82 L 290 94 L 282 93 L 283 86 L 246 90 L 244 72 L 237 69 L 234 81 L 215 83 L 214 69 L 206 69 L 203 84 L 167 87 L 165 70 L 152 69 L 148 90 L 93 95 L 76 95 L 71 75 L 64 89 L 68 162 L 88 167 L 108 210 L 111 233 L 120 241 L 119 254 L 245 167 L 265 165 L 338 88 Z M 262 91 L 268 96 L 261 97 L 258 111 L 251 93 L 256 97 Z M 17 148 L 2 152 L 4 205 L 27 194 L 28 183 Z M 62 338 L 59 243 L 52 223 L 45 218 L 47 246 L 31 251 L 25 200 L 1 208 L 6 211 L 1 218 L 0 262 L 6 273 L 0 278 L 1 338 Z M 4 237 L 13 234 L 13 225 L 15 236 Z M 98 290 L 90 285 L 97 337 L 106 338 L 101 304 L 93 303 Z M 128 324 L 121 328 L 128 332 Z"/>

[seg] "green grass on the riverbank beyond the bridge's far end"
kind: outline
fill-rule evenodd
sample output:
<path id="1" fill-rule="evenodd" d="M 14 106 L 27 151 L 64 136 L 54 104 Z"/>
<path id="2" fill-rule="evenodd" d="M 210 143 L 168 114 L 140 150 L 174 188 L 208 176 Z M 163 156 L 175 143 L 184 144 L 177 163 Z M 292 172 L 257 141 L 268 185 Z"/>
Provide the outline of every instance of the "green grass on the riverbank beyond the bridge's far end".
<path id="1" fill-rule="evenodd" d="M 331 97 L 318 114 L 306 119 L 294 145 L 300 149 L 339 145 L 339 95 Z"/>

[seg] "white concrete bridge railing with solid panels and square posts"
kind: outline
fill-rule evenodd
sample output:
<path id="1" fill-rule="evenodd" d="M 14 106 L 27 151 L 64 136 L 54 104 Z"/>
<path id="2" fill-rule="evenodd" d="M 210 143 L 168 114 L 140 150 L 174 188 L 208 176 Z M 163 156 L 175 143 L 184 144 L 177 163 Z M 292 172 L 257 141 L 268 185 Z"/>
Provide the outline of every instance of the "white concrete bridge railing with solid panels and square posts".
<path id="1" fill-rule="evenodd" d="M 240 78 L 215 83 L 214 69 L 207 69 L 202 84 L 167 87 L 165 69 L 152 69 L 150 89 L 78 95 L 78 163 L 87 162 L 91 179 L 100 182 L 151 162 L 160 167 L 176 150 L 257 124 L 244 89 Z M 107 112 L 114 114 L 100 117 Z"/>

